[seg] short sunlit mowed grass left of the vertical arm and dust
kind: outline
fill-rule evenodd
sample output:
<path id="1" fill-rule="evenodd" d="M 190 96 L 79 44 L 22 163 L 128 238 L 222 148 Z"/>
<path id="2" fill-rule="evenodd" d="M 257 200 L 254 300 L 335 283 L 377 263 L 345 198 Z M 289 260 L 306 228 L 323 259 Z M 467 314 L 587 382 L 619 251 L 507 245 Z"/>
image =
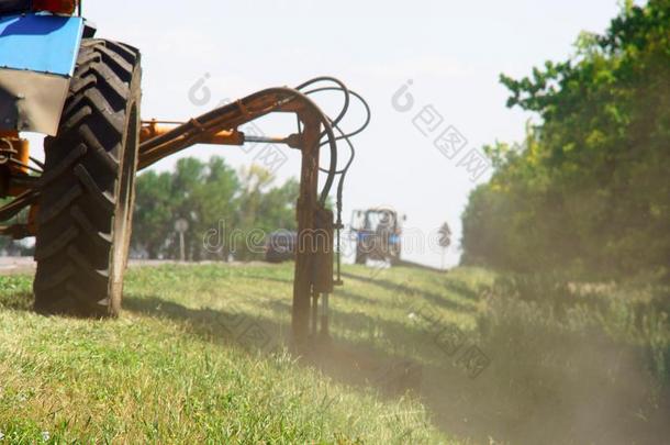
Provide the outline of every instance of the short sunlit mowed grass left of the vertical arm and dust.
<path id="1" fill-rule="evenodd" d="M 33 314 L 31 277 L 0 277 L 0 437 L 455 443 L 409 393 L 384 399 L 290 355 L 291 280 L 291 265 L 133 269 L 123 316 L 90 321 Z"/>

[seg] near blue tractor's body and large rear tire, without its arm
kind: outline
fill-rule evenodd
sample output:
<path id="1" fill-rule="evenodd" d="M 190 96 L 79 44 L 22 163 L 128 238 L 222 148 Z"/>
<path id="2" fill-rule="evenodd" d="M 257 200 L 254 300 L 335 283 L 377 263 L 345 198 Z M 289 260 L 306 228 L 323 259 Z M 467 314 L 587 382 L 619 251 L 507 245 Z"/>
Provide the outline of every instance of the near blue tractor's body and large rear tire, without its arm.
<path id="1" fill-rule="evenodd" d="M 136 48 L 94 38 L 80 8 L 0 1 L 0 194 L 15 198 L 0 216 L 31 209 L 2 231 L 36 235 L 35 310 L 105 315 L 121 305 L 142 69 Z M 20 132 L 47 135 L 44 163 Z"/>

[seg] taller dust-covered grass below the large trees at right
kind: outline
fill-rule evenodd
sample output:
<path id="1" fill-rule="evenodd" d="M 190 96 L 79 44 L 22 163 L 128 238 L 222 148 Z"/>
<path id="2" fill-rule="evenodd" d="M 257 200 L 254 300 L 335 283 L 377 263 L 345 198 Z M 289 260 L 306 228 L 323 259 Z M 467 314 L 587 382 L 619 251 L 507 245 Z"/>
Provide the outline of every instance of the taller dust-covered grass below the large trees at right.
<path id="1" fill-rule="evenodd" d="M 487 400 L 507 413 L 507 427 L 526 425 L 509 436 L 668 442 L 667 286 L 501 276 L 482 302 L 477 332 L 494 351 L 496 381 Z"/>

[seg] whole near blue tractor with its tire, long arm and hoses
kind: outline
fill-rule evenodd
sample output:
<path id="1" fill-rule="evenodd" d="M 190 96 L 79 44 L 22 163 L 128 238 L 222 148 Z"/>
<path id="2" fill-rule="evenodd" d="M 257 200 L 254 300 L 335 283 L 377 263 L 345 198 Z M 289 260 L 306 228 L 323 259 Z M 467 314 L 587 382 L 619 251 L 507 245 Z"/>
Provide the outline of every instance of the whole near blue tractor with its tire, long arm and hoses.
<path id="1" fill-rule="evenodd" d="M 311 337 L 320 300 L 327 309 L 342 283 L 334 277 L 334 245 L 354 154 L 349 136 L 367 126 L 369 107 L 342 81 L 322 77 L 268 88 L 185 122 L 144 121 L 141 81 L 141 52 L 96 38 L 81 1 L 0 0 L 0 234 L 35 237 L 34 310 L 120 314 L 138 170 L 194 144 L 283 144 L 302 155 L 292 333 L 299 342 Z M 324 91 L 342 94 L 334 119 L 311 98 Z M 346 134 L 338 124 L 353 99 L 368 118 Z M 271 113 L 293 114 L 295 133 L 266 137 L 239 130 Z M 43 162 L 31 156 L 23 132 L 45 135 Z M 351 151 L 345 167 L 337 164 L 339 141 Z M 327 166 L 320 166 L 322 147 L 330 151 Z M 326 208 L 335 186 L 337 220 Z"/>

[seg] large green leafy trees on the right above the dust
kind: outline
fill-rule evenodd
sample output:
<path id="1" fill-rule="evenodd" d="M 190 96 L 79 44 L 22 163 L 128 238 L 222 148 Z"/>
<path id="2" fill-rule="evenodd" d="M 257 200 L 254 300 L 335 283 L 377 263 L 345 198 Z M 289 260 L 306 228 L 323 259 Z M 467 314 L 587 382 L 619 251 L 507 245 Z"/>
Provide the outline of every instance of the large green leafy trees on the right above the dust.
<path id="1" fill-rule="evenodd" d="M 590 277 L 670 265 L 670 2 L 632 2 L 603 35 L 532 76 L 501 76 L 538 113 L 525 144 L 485 147 L 495 173 L 464 213 L 464 263 Z"/>

